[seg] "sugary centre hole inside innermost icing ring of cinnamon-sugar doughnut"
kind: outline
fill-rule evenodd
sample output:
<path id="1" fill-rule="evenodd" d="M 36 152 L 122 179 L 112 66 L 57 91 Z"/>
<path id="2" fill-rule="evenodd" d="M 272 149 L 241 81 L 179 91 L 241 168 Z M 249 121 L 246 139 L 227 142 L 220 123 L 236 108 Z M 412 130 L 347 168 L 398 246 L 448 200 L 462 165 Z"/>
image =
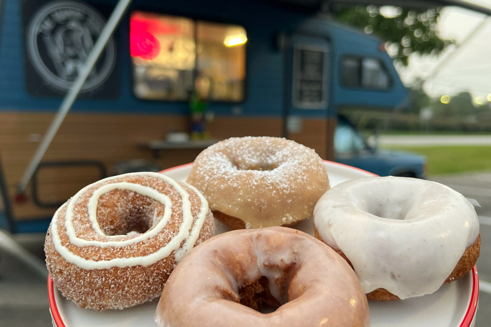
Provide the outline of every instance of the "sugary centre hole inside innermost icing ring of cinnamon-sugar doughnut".
<path id="1" fill-rule="evenodd" d="M 144 233 L 163 214 L 162 203 L 130 190 L 109 191 L 97 203 L 97 222 L 107 236 Z"/>

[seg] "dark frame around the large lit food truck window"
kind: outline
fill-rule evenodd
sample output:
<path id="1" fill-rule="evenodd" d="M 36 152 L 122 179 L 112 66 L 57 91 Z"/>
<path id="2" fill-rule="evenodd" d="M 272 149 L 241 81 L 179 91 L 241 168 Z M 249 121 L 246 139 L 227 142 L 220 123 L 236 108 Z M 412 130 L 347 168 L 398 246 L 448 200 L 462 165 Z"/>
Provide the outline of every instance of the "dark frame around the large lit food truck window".
<path id="1" fill-rule="evenodd" d="M 0 0 L 2 1 L 2 0 Z M 133 76 L 133 62 L 132 62 L 132 57 L 129 55 L 130 51 L 129 51 L 129 32 L 130 32 L 130 17 L 131 17 L 131 14 L 135 11 L 140 11 L 140 12 L 144 12 L 144 13 L 151 13 L 151 14 L 157 14 L 157 15 L 163 15 L 163 16 L 172 16 L 172 17 L 176 17 L 176 18 L 187 18 L 187 19 L 190 19 L 193 24 L 194 24 L 194 42 L 195 44 L 197 44 L 197 24 L 196 22 L 197 21 L 204 21 L 204 22 L 211 22 L 211 23 L 215 23 L 215 24 L 221 24 L 221 25 L 237 25 L 237 26 L 240 26 L 242 27 L 244 30 L 245 30 L 245 33 L 247 34 L 247 29 L 245 28 L 244 25 L 241 25 L 241 24 L 236 24 L 236 23 L 233 23 L 233 22 L 230 22 L 230 21 L 220 21 L 220 20 L 210 20 L 210 19 L 207 19 L 207 18 L 203 18 L 203 17 L 198 17 L 198 16 L 194 16 L 194 15 L 189 15 L 189 16 L 185 16 L 184 13 L 178 13 L 178 12 L 167 12 L 167 11 L 162 11 L 162 10 L 154 10 L 152 8 L 149 8 L 149 7 L 136 7 L 136 8 L 132 8 L 131 11 L 129 12 L 128 14 L 128 48 L 126 49 L 127 50 L 127 55 L 129 57 L 129 64 L 130 64 L 130 67 L 131 67 L 131 76 L 130 76 L 130 82 L 131 82 L 131 95 L 133 96 L 133 98 L 135 98 L 136 100 L 138 101 L 149 101 L 149 102 L 165 102 L 165 103 L 189 103 L 191 101 L 191 98 L 189 99 L 186 99 L 186 100 L 171 100 L 171 99 L 142 99 L 142 98 L 139 98 L 135 95 L 135 89 L 134 89 L 134 86 L 135 86 L 135 77 Z M 243 44 L 244 46 L 244 50 L 245 50 L 245 62 L 244 62 L 244 71 L 245 71 L 245 76 L 244 76 L 244 86 L 243 86 L 243 97 L 242 97 L 242 100 L 240 101 L 230 101 L 230 100 L 206 100 L 207 103 L 216 103 L 216 104 L 224 104 L 224 105 L 241 105 L 243 104 L 245 101 L 247 101 L 247 98 L 248 98 L 248 79 L 249 79 L 249 65 L 248 65 L 248 58 L 249 58 L 249 48 L 248 48 L 248 43 L 249 43 L 249 40 L 248 42 L 245 42 Z M 196 48 L 195 47 L 195 52 L 196 52 Z M 197 58 L 197 54 L 195 53 L 196 55 L 196 58 Z M 193 82 L 195 81 L 196 79 L 196 76 L 197 76 L 197 64 L 195 62 L 194 64 L 194 68 L 192 70 L 193 72 Z"/>

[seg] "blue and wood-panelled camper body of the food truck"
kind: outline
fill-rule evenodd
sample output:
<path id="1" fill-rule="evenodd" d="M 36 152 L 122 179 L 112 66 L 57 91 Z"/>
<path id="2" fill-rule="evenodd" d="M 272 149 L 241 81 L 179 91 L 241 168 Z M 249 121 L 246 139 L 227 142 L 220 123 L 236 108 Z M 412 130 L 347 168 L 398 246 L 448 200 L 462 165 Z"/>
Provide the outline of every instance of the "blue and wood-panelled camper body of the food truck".
<path id="1" fill-rule="evenodd" d="M 6 218 L 0 223 L 12 232 L 45 231 L 60 203 L 103 176 L 139 169 L 138 162 L 146 169 L 184 164 L 217 139 L 287 137 L 334 160 L 341 108 L 392 109 L 407 101 L 380 40 L 299 3 L 135 0 L 25 194 L 16 195 L 115 5 L 112 0 L 0 2 L 0 181 Z M 189 135 L 198 139 L 189 141 Z M 354 150 L 351 158 L 362 149 Z M 348 152 L 340 161 L 349 159 Z M 422 173 L 419 160 L 415 176 Z M 367 160 L 359 161 L 364 168 Z M 128 162 L 137 164 L 125 166 Z"/>

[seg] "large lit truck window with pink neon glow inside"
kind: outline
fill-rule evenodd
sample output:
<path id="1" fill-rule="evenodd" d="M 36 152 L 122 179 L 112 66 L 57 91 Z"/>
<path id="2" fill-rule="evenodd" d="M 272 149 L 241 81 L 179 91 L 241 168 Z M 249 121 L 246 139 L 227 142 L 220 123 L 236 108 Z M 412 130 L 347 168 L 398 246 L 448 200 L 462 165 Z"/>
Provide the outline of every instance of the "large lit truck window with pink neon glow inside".
<path id="1" fill-rule="evenodd" d="M 133 11 L 130 51 L 133 91 L 146 100 L 244 98 L 245 43 L 241 26 Z"/>

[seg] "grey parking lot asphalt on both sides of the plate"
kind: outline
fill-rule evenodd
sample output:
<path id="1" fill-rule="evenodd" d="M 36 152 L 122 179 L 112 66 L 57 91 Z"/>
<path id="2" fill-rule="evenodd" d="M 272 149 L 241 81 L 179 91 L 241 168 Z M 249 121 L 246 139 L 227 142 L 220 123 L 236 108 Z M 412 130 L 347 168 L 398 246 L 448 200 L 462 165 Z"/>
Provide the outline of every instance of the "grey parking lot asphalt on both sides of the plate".
<path id="1" fill-rule="evenodd" d="M 477 262 L 480 297 L 476 326 L 491 323 L 491 171 L 430 178 L 447 184 L 467 198 L 475 199 L 481 224 L 481 254 Z M 44 235 L 20 235 L 15 240 L 43 259 Z M 20 263 L 13 256 L 0 252 L 0 327 L 51 326 L 46 279 Z"/>

